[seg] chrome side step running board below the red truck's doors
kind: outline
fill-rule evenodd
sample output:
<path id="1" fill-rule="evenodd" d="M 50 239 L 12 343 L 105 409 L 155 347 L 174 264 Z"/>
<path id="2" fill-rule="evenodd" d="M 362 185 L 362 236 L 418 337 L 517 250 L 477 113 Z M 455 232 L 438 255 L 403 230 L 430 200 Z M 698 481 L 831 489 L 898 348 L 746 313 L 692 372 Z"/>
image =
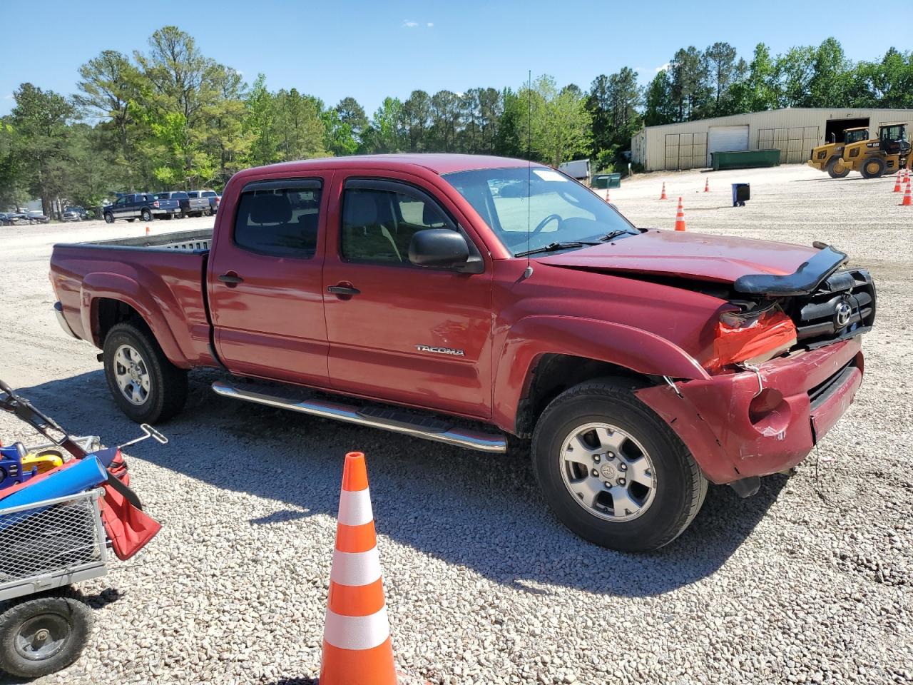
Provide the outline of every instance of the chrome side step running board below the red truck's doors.
<path id="1" fill-rule="evenodd" d="M 301 414 L 332 418 L 337 421 L 373 428 L 383 428 L 407 436 L 424 437 L 426 440 L 445 442 L 461 448 L 477 449 L 480 452 L 503 453 L 507 451 L 507 438 L 498 433 L 485 433 L 455 427 L 435 417 L 415 416 L 394 409 L 375 409 L 341 405 L 314 398 L 299 398 L 284 392 L 283 388 L 247 383 L 230 384 L 216 381 L 213 384 L 216 395 L 253 402 L 257 405 L 290 409 Z"/>

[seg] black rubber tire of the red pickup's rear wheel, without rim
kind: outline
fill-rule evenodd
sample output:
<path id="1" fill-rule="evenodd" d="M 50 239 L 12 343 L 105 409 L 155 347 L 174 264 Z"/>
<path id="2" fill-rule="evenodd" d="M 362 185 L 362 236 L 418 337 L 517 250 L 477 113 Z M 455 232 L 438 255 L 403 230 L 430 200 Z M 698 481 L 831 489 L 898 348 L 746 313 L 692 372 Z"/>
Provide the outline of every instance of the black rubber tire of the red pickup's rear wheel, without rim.
<path id="1" fill-rule="evenodd" d="M 142 357 L 149 389 L 142 403 L 133 404 L 117 382 L 115 355 L 121 345 L 130 345 Z M 118 323 L 105 338 L 105 378 L 114 402 L 137 423 L 158 423 L 180 413 L 187 400 L 187 372 L 168 361 L 152 332 L 141 321 Z"/>

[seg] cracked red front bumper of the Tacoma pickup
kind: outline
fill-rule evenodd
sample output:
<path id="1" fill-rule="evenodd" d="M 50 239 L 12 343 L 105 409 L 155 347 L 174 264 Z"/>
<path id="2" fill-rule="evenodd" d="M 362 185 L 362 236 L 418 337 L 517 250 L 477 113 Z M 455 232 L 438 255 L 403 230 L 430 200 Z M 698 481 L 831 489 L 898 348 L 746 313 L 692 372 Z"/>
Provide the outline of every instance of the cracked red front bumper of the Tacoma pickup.
<path id="1" fill-rule="evenodd" d="M 720 374 L 637 391 L 714 483 L 766 476 L 805 458 L 862 383 L 862 336 Z"/>

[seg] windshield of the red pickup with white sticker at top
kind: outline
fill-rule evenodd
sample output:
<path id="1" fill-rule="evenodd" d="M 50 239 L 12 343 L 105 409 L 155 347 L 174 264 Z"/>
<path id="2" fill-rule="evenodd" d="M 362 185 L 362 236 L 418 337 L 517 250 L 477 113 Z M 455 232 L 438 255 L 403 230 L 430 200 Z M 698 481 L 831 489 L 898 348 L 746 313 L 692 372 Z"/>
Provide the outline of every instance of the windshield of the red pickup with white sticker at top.
<path id="1" fill-rule="evenodd" d="M 595 242 L 615 231 L 637 234 L 597 195 L 547 167 L 479 169 L 443 178 L 515 256 L 554 243 Z"/>

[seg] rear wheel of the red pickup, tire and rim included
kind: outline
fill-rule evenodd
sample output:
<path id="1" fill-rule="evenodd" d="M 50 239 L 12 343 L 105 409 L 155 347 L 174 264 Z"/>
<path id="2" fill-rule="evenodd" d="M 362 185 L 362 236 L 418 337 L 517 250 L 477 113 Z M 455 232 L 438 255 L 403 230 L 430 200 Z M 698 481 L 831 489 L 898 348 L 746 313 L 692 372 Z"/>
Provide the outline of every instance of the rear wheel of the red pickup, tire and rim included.
<path id="1" fill-rule="evenodd" d="M 113 326 L 102 355 L 114 401 L 137 423 L 164 421 L 184 408 L 187 372 L 168 361 L 144 324 Z"/>

